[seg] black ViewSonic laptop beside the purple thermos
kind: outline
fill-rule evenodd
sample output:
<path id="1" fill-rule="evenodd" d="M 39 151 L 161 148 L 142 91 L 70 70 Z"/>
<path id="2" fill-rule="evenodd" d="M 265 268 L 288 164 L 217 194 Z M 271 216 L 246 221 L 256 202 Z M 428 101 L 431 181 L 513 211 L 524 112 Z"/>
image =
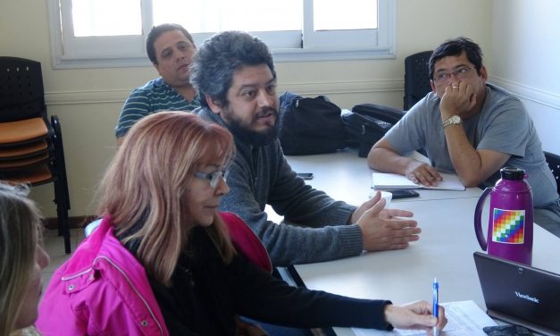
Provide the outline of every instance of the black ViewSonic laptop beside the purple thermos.
<path id="1" fill-rule="evenodd" d="M 560 275 L 474 252 L 487 314 L 534 332 L 560 335 Z"/>

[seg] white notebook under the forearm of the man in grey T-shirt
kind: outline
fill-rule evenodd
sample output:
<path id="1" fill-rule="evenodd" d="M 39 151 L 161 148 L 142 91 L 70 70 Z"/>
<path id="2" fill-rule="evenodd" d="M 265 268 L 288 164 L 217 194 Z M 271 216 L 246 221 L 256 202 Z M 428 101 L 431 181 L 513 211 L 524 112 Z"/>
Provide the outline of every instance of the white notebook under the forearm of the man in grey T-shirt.
<path id="1" fill-rule="evenodd" d="M 372 173 L 372 189 L 440 189 L 440 190 L 464 190 L 456 174 L 440 172 L 443 178 L 437 186 L 426 187 L 408 180 L 405 176 L 389 172 Z"/>

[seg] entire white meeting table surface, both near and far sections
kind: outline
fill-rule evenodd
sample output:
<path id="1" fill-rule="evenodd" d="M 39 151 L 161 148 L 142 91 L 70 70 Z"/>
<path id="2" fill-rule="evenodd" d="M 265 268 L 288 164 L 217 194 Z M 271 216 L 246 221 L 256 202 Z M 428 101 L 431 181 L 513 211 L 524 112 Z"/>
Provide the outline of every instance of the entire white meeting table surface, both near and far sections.
<path id="1" fill-rule="evenodd" d="M 367 199 L 372 170 L 354 151 L 288 156 L 288 162 L 297 172 L 313 172 L 314 179 L 308 183 L 334 198 L 355 205 Z M 481 251 L 473 229 L 474 208 L 481 189 L 419 192 L 420 197 L 396 200 L 391 205 L 414 212 L 414 219 L 422 228 L 419 241 L 403 250 L 295 265 L 305 286 L 402 304 L 417 299 L 430 301 L 431 283 L 437 277 L 440 302 L 473 300 L 485 308 L 472 258 L 474 251 Z M 488 221 L 488 204 L 482 218 L 483 223 Z M 538 225 L 534 225 L 532 265 L 560 273 L 560 240 Z M 334 331 L 339 335 L 354 334 L 347 328 Z"/>

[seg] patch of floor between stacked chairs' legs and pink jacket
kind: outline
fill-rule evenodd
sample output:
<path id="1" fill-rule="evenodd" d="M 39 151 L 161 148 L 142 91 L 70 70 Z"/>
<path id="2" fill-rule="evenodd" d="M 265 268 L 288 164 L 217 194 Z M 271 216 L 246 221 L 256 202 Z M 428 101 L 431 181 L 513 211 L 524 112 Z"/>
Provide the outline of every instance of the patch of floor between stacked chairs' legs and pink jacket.
<path id="1" fill-rule="evenodd" d="M 71 250 L 73 252 L 76 250 L 81 240 L 84 239 L 84 229 L 71 229 L 70 231 Z M 64 253 L 64 239 L 62 236 L 58 236 L 58 231 L 45 230 L 43 231 L 43 237 L 46 253 L 51 258 L 50 264 L 43 270 L 43 288 L 46 289 L 46 285 L 48 281 L 51 280 L 54 271 L 56 271 L 60 265 L 63 265 L 71 255 Z"/>

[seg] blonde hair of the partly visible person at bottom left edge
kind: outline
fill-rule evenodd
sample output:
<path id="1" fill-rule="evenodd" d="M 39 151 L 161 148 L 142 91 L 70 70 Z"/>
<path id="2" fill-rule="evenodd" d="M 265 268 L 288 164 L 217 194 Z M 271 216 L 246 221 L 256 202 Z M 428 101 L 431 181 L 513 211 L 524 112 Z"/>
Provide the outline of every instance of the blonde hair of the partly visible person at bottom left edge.
<path id="1" fill-rule="evenodd" d="M 27 194 L 0 181 L 0 335 L 15 328 L 41 239 L 42 217 Z"/>

